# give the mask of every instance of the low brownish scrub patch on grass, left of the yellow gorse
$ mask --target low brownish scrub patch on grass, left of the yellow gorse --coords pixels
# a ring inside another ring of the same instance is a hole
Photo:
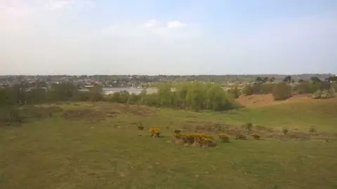
[[[105,120],[107,115],[100,111],[93,109],[79,109],[79,110],[67,110],[62,113],[62,118],[69,120],[88,120],[91,122],[98,122]]]

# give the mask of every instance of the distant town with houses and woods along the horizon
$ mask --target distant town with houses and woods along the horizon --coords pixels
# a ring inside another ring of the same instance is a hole
[[[90,87],[98,85],[100,87],[133,87],[146,88],[153,87],[155,83],[162,82],[187,82],[187,81],[201,81],[207,83],[220,83],[223,87],[232,84],[243,85],[244,83],[251,83],[256,81],[256,78],[268,81],[282,80],[287,75],[191,75],[191,76],[143,76],[143,75],[95,75],[95,76],[0,76],[0,87],[8,87],[15,84],[24,84],[26,87],[50,87],[53,83],[71,82],[79,88]],[[324,80],[331,76],[336,76],[331,73],[327,74],[298,74],[289,75],[293,82],[298,80],[310,80],[312,77],[317,77]]]

